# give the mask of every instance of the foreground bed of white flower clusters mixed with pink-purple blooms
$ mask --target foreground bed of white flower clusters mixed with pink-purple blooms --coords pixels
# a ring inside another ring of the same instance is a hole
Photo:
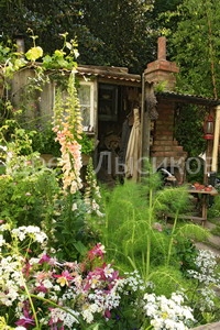
[[[118,329],[121,322],[123,329],[134,329],[142,320],[147,329],[187,329],[194,321],[183,294],[157,297],[138,272],[120,276],[105,263],[100,243],[79,263],[51,256],[47,237],[34,226],[2,223],[0,238],[2,324],[6,320],[16,330]]]

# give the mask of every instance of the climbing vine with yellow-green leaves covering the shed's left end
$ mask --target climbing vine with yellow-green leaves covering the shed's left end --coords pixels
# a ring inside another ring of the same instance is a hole
[[[12,138],[15,129],[25,129],[34,140],[34,151],[42,153],[50,147],[47,151],[50,153],[53,146],[54,155],[58,155],[59,146],[55,142],[55,133],[50,124],[42,125],[37,107],[45,84],[56,81],[67,88],[67,76],[77,66],[77,43],[75,40],[67,41],[68,33],[64,33],[62,34],[64,41],[62,48],[56,50],[52,55],[44,55],[43,48],[37,45],[37,35],[34,35],[31,29],[29,29],[29,34],[33,46],[24,54],[19,53],[13,44],[0,44],[0,124],[8,127],[7,121],[11,120],[10,130],[6,130],[6,140]],[[25,85],[20,89],[19,102],[15,107],[11,98],[10,84],[13,76],[25,68],[31,68],[34,74],[29,76]],[[33,113],[31,118],[26,116],[28,112]]]

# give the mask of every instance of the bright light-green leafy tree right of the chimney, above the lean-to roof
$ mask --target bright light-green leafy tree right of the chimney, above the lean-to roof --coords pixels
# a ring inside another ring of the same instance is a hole
[[[180,67],[178,89],[217,99],[220,89],[220,8],[212,0],[184,0],[169,13],[179,18],[169,29],[173,59]]]

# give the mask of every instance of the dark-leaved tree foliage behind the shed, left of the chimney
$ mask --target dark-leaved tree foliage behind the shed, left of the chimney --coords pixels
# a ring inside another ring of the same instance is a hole
[[[151,26],[153,0],[2,0],[3,38],[28,29],[38,36],[46,53],[59,48],[59,34],[77,37],[81,64],[127,66],[141,73],[154,59]],[[31,46],[25,37],[26,48]]]

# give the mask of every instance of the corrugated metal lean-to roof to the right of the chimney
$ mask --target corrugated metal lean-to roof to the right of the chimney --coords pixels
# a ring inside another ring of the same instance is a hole
[[[176,102],[190,102],[201,106],[218,106],[220,105],[220,99],[211,99],[201,96],[177,94],[174,91],[160,91],[155,94],[158,99],[173,99]]]

